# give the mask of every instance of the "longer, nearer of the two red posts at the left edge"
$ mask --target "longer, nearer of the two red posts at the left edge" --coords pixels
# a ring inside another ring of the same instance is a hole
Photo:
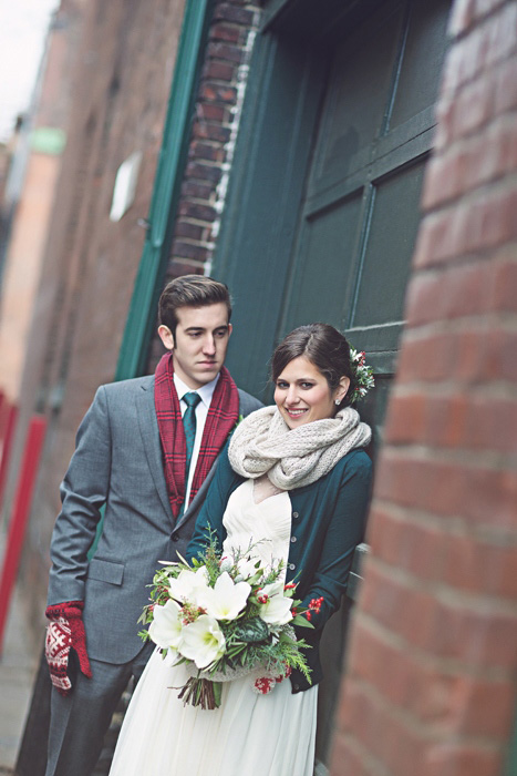
[[[2,652],[6,621],[14,580],[18,573],[45,428],[46,420],[44,418],[39,416],[32,418],[29,425],[22,466],[18,478],[17,493],[3,553],[2,575],[0,579],[0,654]]]

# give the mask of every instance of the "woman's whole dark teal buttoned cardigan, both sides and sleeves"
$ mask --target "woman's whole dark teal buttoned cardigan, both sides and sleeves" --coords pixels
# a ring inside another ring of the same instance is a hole
[[[292,692],[308,690],[322,680],[319,643],[324,624],[340,606],[347,590],[355,547],[364,535],[370,500],[372,464],[363,449],[351,450],[334,468],[317,482],[289,491],[292,520],[287,582],[297,582],[297,599],[307,609],[311,599],[323,598],[319,613],[313,613],[314,630],[297,629],[311,649],[307,662],[311,668],[311,684],[293,671]],[[224,450],[206,501],[198,514],[187,560],[204,552],[208,527],[216,532],[223,547],[226,529],[223,515],[230,494],[244,482],[231,469]]]

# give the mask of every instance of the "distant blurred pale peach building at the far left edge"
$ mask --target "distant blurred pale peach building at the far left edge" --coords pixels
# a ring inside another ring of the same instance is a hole
[[[71,102],[69,71],[76,58],[82,4],[84,0],[64,0],[53,19],[32,106],[12,143],[12,165],[0,201],[6,216],[12,213],[0,305],[0,389],[11,402],[20,398],[27,339],[61,169],[61,139],[66,133]],[[46,142],[41,142],[43,133]],[[51,144],[50,135],[58,142]]]

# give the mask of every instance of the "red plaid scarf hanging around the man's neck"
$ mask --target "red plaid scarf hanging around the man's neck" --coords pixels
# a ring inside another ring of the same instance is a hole
[[[187,450],[182,410],[173,375],[173,354],[167,353],[156,367],[154,405],[164,451],[165,480],[170,509],[174,517],[177,518],[185,500]],[[203,431],[199,457],[190,489],[190,501],[207,478],[238,417],[239,392],[230,372],[226,367],[223,367]]]

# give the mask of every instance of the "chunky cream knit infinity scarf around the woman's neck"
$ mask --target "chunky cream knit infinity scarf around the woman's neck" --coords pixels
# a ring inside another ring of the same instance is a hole
[[[237,426],[228,458],[241,477],[267,472],[277,488],[292,490],[319,480],[350,450],[365,447],[371,436],[370,426],[351,407],[292,430],[276,406],[262,407]]]

